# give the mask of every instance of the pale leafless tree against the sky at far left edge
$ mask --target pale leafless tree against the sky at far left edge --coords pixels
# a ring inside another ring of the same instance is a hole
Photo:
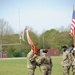
[[[9,37],[13,33],[13,29],[8,22],[0,19],[0,44],[8,43]]]

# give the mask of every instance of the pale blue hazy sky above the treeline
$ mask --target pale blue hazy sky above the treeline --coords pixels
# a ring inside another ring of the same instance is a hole
[[[75,0],[0,0],[0,19],[15,32],[30,26],[41,34],[44,30],[68,27]]]

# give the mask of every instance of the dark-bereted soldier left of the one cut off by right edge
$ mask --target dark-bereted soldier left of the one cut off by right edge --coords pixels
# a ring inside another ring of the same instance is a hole
[[[63,68],[63,75],[69,75],[70,70],[70,54],[69,51],[67,51],[67,46],[62,47],[63,50],[63,56],[62,56],[62,68]]]

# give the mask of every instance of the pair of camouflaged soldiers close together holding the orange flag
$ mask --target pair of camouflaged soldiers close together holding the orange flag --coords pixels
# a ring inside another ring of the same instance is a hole
[[[34,75],[36,66],[39,66],[42,75],[51,75],[52,72],[52,59],[47,56],[48,50],[43,50],[41,56],[33,53],[33,50],[27,55],[27,68],[28,75]]]

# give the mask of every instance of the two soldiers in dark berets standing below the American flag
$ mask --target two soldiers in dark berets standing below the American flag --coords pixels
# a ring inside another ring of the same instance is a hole
[[[70,50],[67,50],[67,46],[62,47],[62,68],[63,75],[69,75],[69,70],[72,68],[72,73],[75,75],[75,48],[74,45],[71,46]]]

